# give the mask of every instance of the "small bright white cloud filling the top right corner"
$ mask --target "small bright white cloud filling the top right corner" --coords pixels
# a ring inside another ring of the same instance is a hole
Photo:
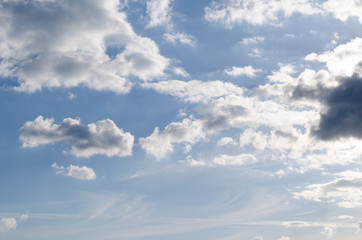
[[[328,0],[323,8],[334,14],[334,17],[345,22],[350,17],[357,17],[362,23],[362,4],[360,1]]]

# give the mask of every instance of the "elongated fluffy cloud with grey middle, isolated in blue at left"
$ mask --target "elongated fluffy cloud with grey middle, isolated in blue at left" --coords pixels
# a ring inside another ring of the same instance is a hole
[[[84,126],[79,119],[66,118],[57,125],[54,119],[39,116],[21,127],[20,141],[23,147],[67,143],[71,145],[70,152],[77,157],[96,154],[112,157],[131,155],[134,137],[110,119]]]

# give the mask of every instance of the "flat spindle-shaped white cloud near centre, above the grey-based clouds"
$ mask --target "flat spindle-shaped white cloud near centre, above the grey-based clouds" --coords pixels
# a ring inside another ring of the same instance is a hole
[[[222,81],[203,82],[191,80],[188,82],[169,80],[155,83],[143,83],[144,88],[154,89],[160,93],[175,96],[186,102],[206,102],[214,98],[230,94],[242,95],[243,88]]]

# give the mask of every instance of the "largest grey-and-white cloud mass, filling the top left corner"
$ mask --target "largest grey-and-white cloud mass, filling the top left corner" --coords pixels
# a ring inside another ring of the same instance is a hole
[[[127,93],[128,76],[163,75],[169,60],[138,36],[119,1],[8,1],[0,7],[0,76],[18,91],[86,86]]]

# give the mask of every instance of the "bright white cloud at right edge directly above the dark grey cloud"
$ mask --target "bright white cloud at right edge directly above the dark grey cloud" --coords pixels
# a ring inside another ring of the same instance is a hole
[[[308,61],[325,62],[328,70],[336,76],[352,76],[358,72],[362,75],[361,62],[362,38],[355,38],[348,43],[337,46],[332,51],[322,54],[311,53],[305,57]]]

